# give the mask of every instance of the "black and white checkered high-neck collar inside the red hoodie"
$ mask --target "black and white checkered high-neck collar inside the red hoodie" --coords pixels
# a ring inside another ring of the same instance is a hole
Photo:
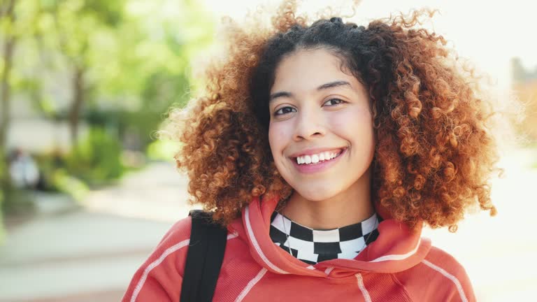
[[[285,225],[284,225],[285,224]],[[331,230],[303,227],[274,212],[270,235],[273,243],[307,264],[331,259],[354,259],[378,237],[376,214],[363,222]],[[365,242],[367,240],[367,242]]]

